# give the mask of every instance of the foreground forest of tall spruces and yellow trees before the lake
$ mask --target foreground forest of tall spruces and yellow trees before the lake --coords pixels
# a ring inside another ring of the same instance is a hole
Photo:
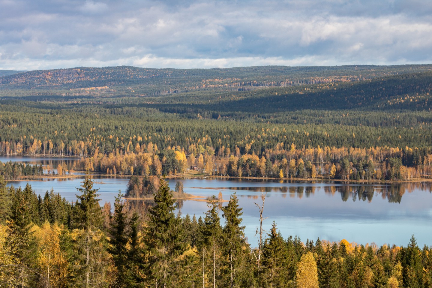
[[[86,178],[76,202],[0,177],[0,282],[4,287],[429,288],[432,247],[302,240],[273,222],[248,243],[235,194],[216,197],[203,216],[175,215],[159,180],[146,213],[118,195],[101,208]],[[265,195],[261,197],[260,211]],[[222,217],[221,217],[222,215]],[[258,225],[258,224],[257,224]],[[409,237],[407,237],[409,238]],[[407,239],[408,240],[408,239]]]

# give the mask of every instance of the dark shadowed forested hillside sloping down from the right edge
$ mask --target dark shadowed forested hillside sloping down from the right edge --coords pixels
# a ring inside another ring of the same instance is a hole
[[[432,72],[388,76],[358,82],[276,87],[242,92],[203,93],[152,97],[146,106],[170,113],[194,111],[232,114],[318,110],[430,111]],[[123,100],[127,101],[127,100]],[[130,100],[132,101],[132,100]]]

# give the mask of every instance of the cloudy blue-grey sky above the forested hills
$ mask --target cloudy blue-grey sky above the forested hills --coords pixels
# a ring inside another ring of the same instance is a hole
[[[430,0],[0,0],[0,69],[432,63]]]

